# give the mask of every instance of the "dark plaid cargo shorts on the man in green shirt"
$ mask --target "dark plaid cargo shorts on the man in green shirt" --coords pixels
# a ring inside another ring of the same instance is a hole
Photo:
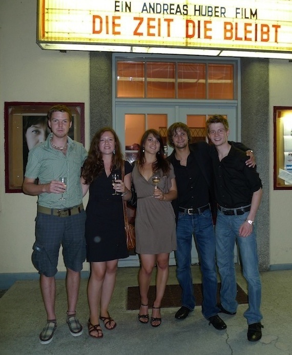
[[[65,266],[76,272],[82,270],[86,258],[85,221],[84,210],[65,218],[37,213],[32,263],[38,273],[48,278],[57,273],[61,245]]]

